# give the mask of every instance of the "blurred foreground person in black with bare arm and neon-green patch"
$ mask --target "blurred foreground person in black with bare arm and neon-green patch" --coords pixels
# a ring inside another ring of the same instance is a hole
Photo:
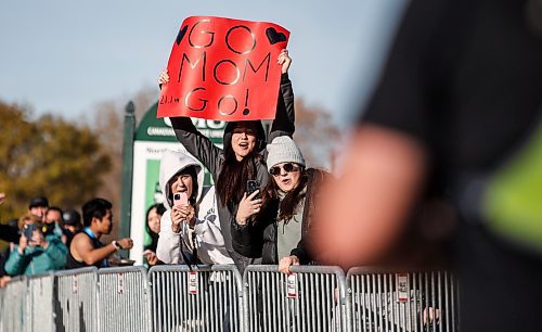
[[[542,2],[412,1],[363,111],[322,259],[401,260],[426,208],[459,220],[461,330],[542,331]]]

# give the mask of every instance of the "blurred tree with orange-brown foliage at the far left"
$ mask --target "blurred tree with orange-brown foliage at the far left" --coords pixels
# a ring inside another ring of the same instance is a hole
[[[43,115],[33,120],[27,106],[0,101],[0,189],[8,200],[2,215],[18,217],[31,196],[79,208],[96,195],[111,158],[85,125]]]

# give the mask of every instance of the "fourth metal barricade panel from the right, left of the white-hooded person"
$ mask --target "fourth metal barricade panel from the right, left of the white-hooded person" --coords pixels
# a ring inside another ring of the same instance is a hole
[[[100,331],[151,331],[151,294],[145,268],[100,269],[98,289]]]

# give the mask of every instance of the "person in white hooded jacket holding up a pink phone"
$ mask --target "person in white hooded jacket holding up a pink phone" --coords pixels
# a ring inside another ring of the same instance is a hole
[[[160,161],[160,188],[166,212],[160,219],[156,255],[165,264],[233,264],[228,255],[218,216],[197,218],[204,170],[183,152],[167,150]],[[173,203],[175,194],[186,202]]]

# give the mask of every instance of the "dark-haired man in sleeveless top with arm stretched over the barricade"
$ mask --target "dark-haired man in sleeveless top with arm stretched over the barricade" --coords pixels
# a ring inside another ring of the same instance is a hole
[[[111,202],[104,199],[92,199],[85,203],[82,206],[85,228],[72,240],[66,269],[87,266],[108,267],[107,258],[112,254],[132,248],[133,241],[128,238],[114,240],[109,244],[100,241],[103,234],[109,234],[113,229],[112,208]]]

